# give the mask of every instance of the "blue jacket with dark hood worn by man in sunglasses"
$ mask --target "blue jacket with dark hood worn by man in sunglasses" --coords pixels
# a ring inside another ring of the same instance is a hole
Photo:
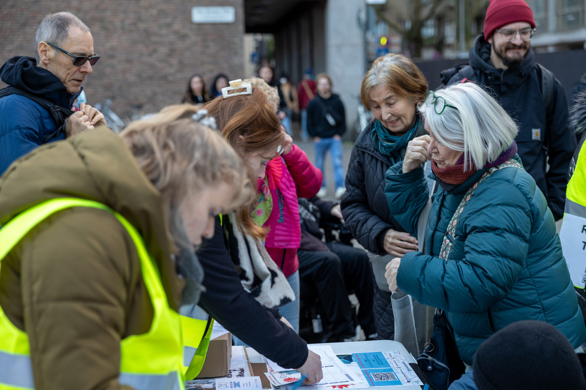
[[[12,57],[0,68],[0,79],[11,87],[20,88],[64,108],[71,108],[79,95],[69,94],[59,78],[36,66],[35,58]],[[12,161],[45,143],[57,131],[49,111],[20,95],[0,99],[0,175]],[[65,139],[65,133],[49,141]]]

